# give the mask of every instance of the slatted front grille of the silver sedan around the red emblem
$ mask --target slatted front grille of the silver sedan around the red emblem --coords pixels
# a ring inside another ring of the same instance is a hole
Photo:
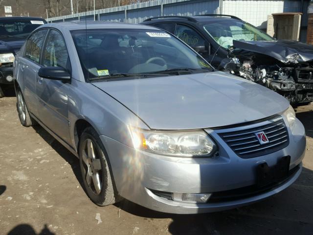
[[[256,137],[257,132],[263,131],[268,143],[261,144]],[[283,118],[268,120],[266,123],[240,131],[219,133],[227,145],[242,158],[254,158],[283,149],[289,144],[288,130]]]

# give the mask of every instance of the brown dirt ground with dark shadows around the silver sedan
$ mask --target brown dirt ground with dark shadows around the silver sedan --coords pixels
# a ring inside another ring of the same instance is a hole
[[[78,160],[40,126],[22,127],[15,105],[15,97],[0,99],[0,235],[313,235],[313,105],[297,109],[308,143],[291,187],[250,206],[199,215],[129,201],[97,207],[82,188]]]

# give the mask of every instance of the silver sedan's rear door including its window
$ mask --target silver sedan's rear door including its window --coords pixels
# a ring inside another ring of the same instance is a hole
[[[38,115],[38,99],[36,95],[35,82],[38,78],[40,66],[40,55],[44,45],[48,29],[34,32],[26,41],[23,57],[19,61],[19,75],[22,75],[22,93],[28,111]]]

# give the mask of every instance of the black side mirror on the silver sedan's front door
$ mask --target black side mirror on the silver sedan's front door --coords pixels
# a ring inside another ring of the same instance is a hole
[[[51,80],[59,80],[62,82],[70,81],[70,74],[62,67],[42,67],[39,69],[38,75]]]

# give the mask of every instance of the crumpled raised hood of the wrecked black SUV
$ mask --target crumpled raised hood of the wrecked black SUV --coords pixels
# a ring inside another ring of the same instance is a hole
[[[284,64],[297,64],[313,60],[313,46],[292,40],[251,42],[233,40],[233,45],[237,49],[271,56]]]

